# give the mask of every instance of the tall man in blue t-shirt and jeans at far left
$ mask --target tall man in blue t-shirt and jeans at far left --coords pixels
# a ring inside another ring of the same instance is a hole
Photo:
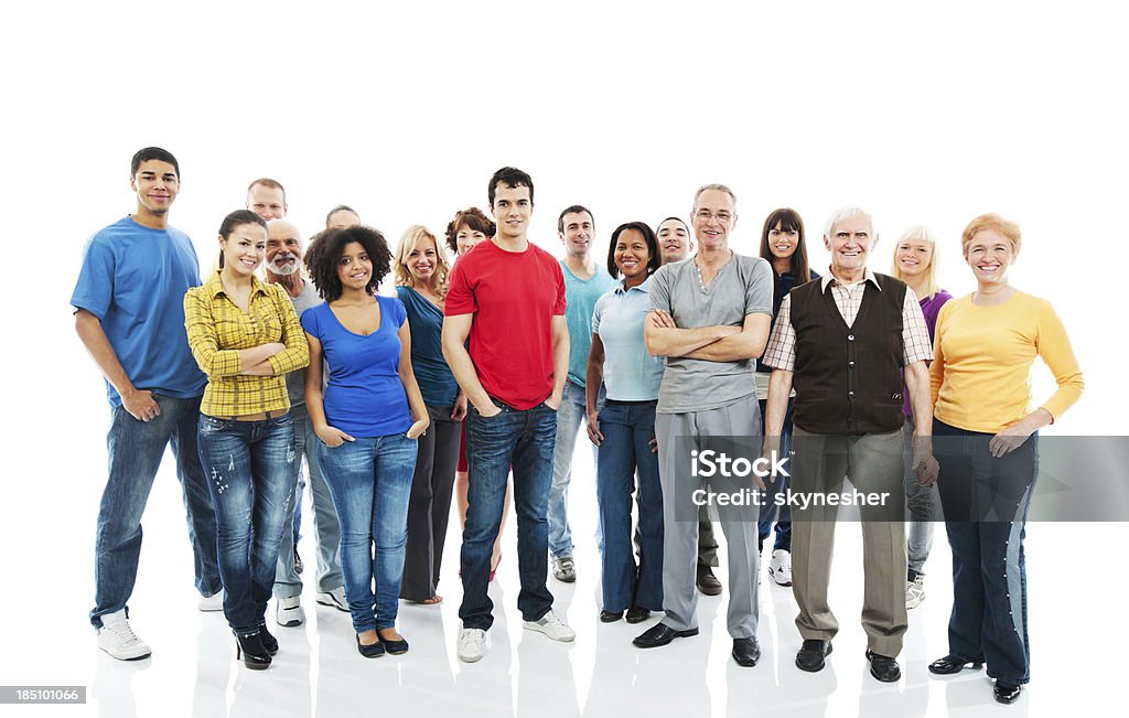
[[[120,660],[150,655],[130,628],[126,603],[141,515],[168,444],[187,508],[200,610],[222,610],[216,514],[196,452],[205,377],[184,331],[184,294],[200,284],[200,264],[187,235],[168,226],[180,166],[167,150],[147,147],[133,156],[130,175],[137,210],[90,237],[71,296],[75,330],[106,378],[111,406],[90,622],[98,647]]]

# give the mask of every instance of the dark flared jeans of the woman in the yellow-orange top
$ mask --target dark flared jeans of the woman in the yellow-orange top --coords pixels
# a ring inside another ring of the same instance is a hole
[[[953,612],[948,653],[983,660],[988,675],[1031,678],[1027,573],[1023,538],[1039,474],[1039,436],[994,458],[990,434],[934,419],[937,489],[953,550]]]

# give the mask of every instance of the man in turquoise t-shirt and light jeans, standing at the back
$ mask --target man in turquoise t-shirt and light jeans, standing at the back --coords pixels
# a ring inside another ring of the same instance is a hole
[[[564,245],[561,270],[564,273],[564,321],[568,323],[570,349],[568,382],[557,412],[557,448],[553,450],[553,485],[549,493],[549,552],[553,557],[557,580],[576,580],[572,559],[572,532],[568,525],[568,484],[572,478],[572,453],[580,426],[587,423],[585,376],[588,351],[592,349],[592,312],[596,299],[615,288],[605,269],[592,259],[595,220],[586,208],[574,204],[557,219],[557,231]],[[599,404],[604,402],[601,388]],[[595,465],[596,447],[593,447]]]

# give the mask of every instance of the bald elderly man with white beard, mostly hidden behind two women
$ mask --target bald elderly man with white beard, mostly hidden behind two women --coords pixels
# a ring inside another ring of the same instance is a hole
[[[268,224],[266,281],[279,284],[294,303],[294,310],[301,313],[321,303],[313,283],[301,275],[301,236],[297,227],[285,219],[272,219]],[[338,544],[341,528],[333,509],[329,487],[317,467],[317,435],[306,411],[306,395],[301,371],[292,371],[286,377],[287,393],[290,395],[290,417],[294,421],[295,462],[294,483],[287,499],[287,516],[294,516],[294,504],[299,478],[301,457],[306,456],[309,471],[309,487],[314,497],[314,538],[317,542],[317,603],[339,611],[349,611],[345,602],[344,578],[341,575],[341,557]],[[274,597],[278,599],[275,618],[279,625],[301,625],[306,614],[301,608],[301,578],[295,569],[294,529],[289,525],[282,531],[279,546],[279,563],[274,575]]]

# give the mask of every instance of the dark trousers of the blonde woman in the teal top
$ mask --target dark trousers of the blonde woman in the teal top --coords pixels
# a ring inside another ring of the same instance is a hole
[[[409,601],[427,601],[439,586],[462,429],[462,422],[450,418],[450,406],[428,406],[427,412],[431,426],[419,438],[408,504],[404,580],[400,586],[400,597]]]

